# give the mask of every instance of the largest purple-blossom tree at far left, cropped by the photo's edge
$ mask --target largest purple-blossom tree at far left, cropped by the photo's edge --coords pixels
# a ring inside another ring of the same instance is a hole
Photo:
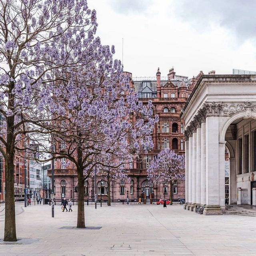
[[[95,55],[107,49],[99,47],[100,39],[94,38],[96,28],[96,12],[88,8],[86,0],[0,0],[0,152],[6,173],[4,241],[16,241],[14,153],[28,148],[27,136],[33,140],[31,134],[46,134],[52,120],[63,119],[65,102],[57,98],[63,81],[72,94],[74,83],[70,80],[74,73],[78,80],[87,78],[88,83],[100,79],[93,72],[97,65]],[[83,66],[92,68],[86,76],[76,72]],[[68,104],[76,106],[75,99],[71,97]]]

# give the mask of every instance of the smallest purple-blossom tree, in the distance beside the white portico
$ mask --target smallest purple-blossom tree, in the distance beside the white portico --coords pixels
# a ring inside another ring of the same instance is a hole
[[[147,170],[148,179],[159,184],[169,182],[170,204],[172,204],[172,183],[174,180],[185,180],[185,158],[173,150],[164,149],[154,159]]]

